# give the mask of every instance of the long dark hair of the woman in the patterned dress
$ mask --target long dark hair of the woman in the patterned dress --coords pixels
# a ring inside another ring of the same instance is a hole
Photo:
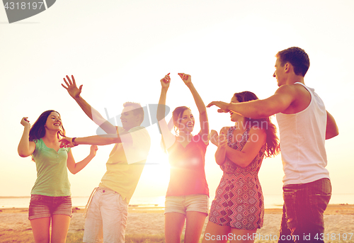
[[[244,91],[240,93],[235,93],[234,97],[237,101],[246,102],[246,101],[254,101],[258,100],[256,94],[253,94],[250,91]],[[267,138],[265,140],[265,157],[272,157],[280,152],[279,140],[277,136],[277,128],[270,121],[270,118],[261,118],[261,119],[253,119],[253,118],[245,118],[246,124],[245,127],[251,128],[252,126],[256,126],[260,129],[265,130],[265,134]],[[265,123],[265,124],[264,124]]]

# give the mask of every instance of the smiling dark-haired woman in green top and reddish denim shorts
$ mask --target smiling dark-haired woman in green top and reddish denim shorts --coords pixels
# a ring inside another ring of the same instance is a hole
[[[89,156],[76,163],[70,148],[60,148],[59,140],[65,137],[65,130],[57,111],[43,112],[32,128],[27,117],[22,118],[21,124],[24,130],[18,154],[21,157],[31,155],[37,167],[28,210],[35,242],[50,242],[50,239],[51,242],[65,242],[72,217],[67,169],[72,174],[84,169],[95,157],[97,146],[91,146]]]

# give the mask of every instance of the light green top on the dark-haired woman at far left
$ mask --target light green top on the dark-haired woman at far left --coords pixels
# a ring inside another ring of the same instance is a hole
[[[70,148],[57,151],[45,145],[42,138],[35,140],[33,160],[37,167],[37,180],[31,194],[44,196],[71,196],[67,175],[67,153]]]

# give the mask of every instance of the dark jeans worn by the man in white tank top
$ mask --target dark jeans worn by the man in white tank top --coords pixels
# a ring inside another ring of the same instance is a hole
[[[324,210],[331,199],[332,186],[323,178],[282,187],[284,205],[278,242],[324,242]]]

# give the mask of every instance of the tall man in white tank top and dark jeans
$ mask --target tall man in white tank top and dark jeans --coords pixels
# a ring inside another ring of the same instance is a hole
[[[285,173],[278,242],[324,242],[324,210],[331,198],[324,140],[338,135],[338,128],[314,89],[304,85],[307,53],[290,47],[275,57],[273,77],[279,88],[273,96],[244,103],[213,101],[207,107],[248,118],[277,115]]]

